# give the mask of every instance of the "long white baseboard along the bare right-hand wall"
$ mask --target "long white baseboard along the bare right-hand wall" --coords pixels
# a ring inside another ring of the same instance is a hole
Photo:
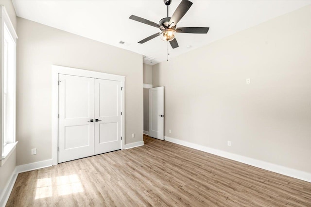
[[[272,172],[275,172],[278,174],[287,175],[287,176],[294,177],[294,178],[297,178],[300,180],[311,182],[311,173],[307,173],[304,171],[295,170],[292,168],[284,167],[281,165],[276,165],[276,164],[266,162],[266,161],[262,161],[262,160],[258,160],[258,159],[244,157],[242,155],[237,155],[237,154],[225,152],[225,151],[218,150],[218,149],[213,149],[213,148],[210,148],[207,146],[178,140],[178,139],[175,139],[172,137],[165,136],[165,141],[168,141],[171,143],[176,143],[176,144],[183,145],[183,146],[187,146],[187,147],[197,149],[197,150],[200,150],[203,152],[207,152],[207,153],[210,153],[213,155],[217,155],[217,156],[220,156],[223,158],[232,159],[232,160],[235,160],[238,162],[242,162],[242,163],[245,163],[248,165],[259,167],[261,169],[272,171]]]

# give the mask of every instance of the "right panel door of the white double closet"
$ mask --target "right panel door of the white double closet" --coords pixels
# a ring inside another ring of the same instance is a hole
[[[121,109],[121,81],[95,79],[95,155],[121,149]]]

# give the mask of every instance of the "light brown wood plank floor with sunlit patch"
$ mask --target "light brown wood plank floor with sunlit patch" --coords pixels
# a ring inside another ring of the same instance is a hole
[[[145,145],[21,173],[22,206],[311,207],[311,183],[144,136]]]

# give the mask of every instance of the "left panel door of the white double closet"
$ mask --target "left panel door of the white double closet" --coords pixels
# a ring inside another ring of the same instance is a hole
[[[58,163],[94,155],[94,79],[59,75]]]

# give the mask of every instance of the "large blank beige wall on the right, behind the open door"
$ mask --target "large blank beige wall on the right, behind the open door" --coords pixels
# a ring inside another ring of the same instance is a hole
[[[311,173],[311,6],[156,64],[153,84],[166,136]]]

